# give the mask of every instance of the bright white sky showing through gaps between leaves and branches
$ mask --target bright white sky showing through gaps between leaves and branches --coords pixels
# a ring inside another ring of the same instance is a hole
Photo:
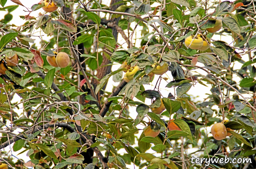
[[[40,0],[30,0],[30,1],[29,1],[29,0],[20,0],[20,2],[21,2],[24,6],[26,6],[27,8],[31,8],[32,5],[38,3],[39,1],[40,1]],[[11,2],[10,0],[8,0],[7,3],[6,3],[6,5],[5,5],[5,7],[6,7],[6,6],[10,6],[10,5],[16,5],[16,4],[13,3],[13,2]],[[13,19],[11,20],[11,24],[14,24],[14,25],[16,25],[16,26],[21,26],[21,25],[23,25],[23,23],[25,23],[26,21],[23,20],[23,19],[21,19],[20,16],[25,16],[25,15],[27,15],[28,12],[25,12],[25,11],[27,11],[26,8],[24,8],[24,7],[22,7],[22,6],[19,6],[15,11],[11,12],[11,14],[13,15]],[[42,9],[40,9],[40,10],[38,10],[38,11],[34,11],[34,12],[32,12],[32,13],[30,14],[30,16],[38,17],[39,12],[43,13],[44,11],[43,11]],[[6,11],[0,11],[0,19],[4,18],[4,15],[5,15],[5,14],[7,14]],[[133,27],[134,27],[134,26],[135,26],[135,24],[133,24]],[[151,28],[150,28],[150,29],[151,29]],[[39,30],[39,29],[38,29],[38,30]],[[38,31],[38,30],[35,30],[35,31]],[[141,37],[141,35],[140,35],[140,30],[141,30],[141,28],[140,28],[140,26],[139,26],[139,27],[137,28],[137,35],[134,35],[133,37],[140,38],[140,37]],[[37,35],[37,34],[39,34],[39,33],[36,33],[35,35]],[[36,42],[37,44],[40,42],[40,39],[39,39],[38,37],[33,37],[33,38],[36,39],[35,42]],[[43,39],[46,40],[46,41],[48,41],[50,38],[51,38],[51,37],[46,36],[46,35],[43,36]],[[232,38],[230,38],[230,37],[228,37],[228,36],[221,36],[221,37],[220,37],[220,35],[214,35],[214,36],[213,36],[213,39],[215,39],[215,40],[223,40],[223,41],[226,41],[228,44],[233,41]],[[140,40],[140,39],[138,39],[138,40],[136,41],[136,46],[139,46],[139,44],[140,44],[140,41],[139,41],[139,40]],[[123,42],[124,42],[124,40],[123,40],[122,36],[120,36],[120,34],[119,34],[119,36],[118,36],[118,40],[117,40],[117,41],[118,41],[119,44],[123,44]],[[231,43],[231,45],[233,45],[233,43]],[[127,45],[124,44],[124,46],[127,46]],[[248,60],[248,55],[243,55],[242,58],[243,58],[243,60],[247,61],[247,60]],[[197,65],[198,65],[198,66],[204,66],[202,63],[197,63]],[[242,64],[240,64],[240,66],[237,66],[236,69],[240,69],[241,66],[242,66]],[[113,65],[113,66],[112,66],[112,71],[117,70],[119,67],[120,67],[119,64]],[[202,71],[202,70],[197,70],[197,71],[198,71],[200,74],[202,74],[202,75],[206,75],[206,73],[205,73],[204,71]],[[158,77],[159,77],[158,75],[155,75],[155,78],[154,78],[153,82],[151,83],[151,85],[144,85],[145,90],[148,90],[148,89],[153,90],[154,87],[155,87],[155,84],[156,84],[156,82],[157,82]],[[173,79],[170,71],[168,71],[165,75],[163,75],[163,77],[170,78],[170,79],[168,80],[168,82],[172,81],[172,79]],[[238,80],[239,80],[239,79],[238,79]],[[162,81],[161,81],[161,85],[160,85],[160,89],[161,89],[161,90],[160,90],[160,92],[161,92],[161,94],[163,95],[163,97],[167,97],[168,94],[169,94],[169,92],[171,92],[171,93],[173,94],[173,90],[174,90],[173,88],[165,88],[165,86],[167,85],[168,82],[164,81],[163,79],[162,79]],[[119,84],[119,83],[113,82],[113,81],[112,81],[112,77],[111,77],[111,78],[109,79],[109,83],[107,84],[106,90],[107,90],[107,91],[112,91],[113,86],[117,86],[118,84]],[[211,94],[211,92],[210,92],[210,88],[211,88],[211,87],[210,87],[209,84],[208,84],[208,86],[209,86],[209,87],[203,86],[203,85],[201,85],[201,84],[196,84],[195,87],[192,86],[192,88],[188,91],[188,94],[193,95],[193,96],[195,97],[195,100],[197,100],[197,101],[203,101],[205,98],[208,97],[208,94]],[[19,96],[17,96],[17,94],[15,95],[14,100],[15,100],[15,102],[17,102],[17,100],[20,100],[20,98],[19,98]],[[136,98],[134,98],[134,101],[139,101],[139,100],[137,100]],[[151,104],[150,99],[146,99],[145,103],[148,104],[148,105],[150,105],[150,104]],[[17,109],[16,109],[16,110],[14,110],[14,111],[15,111],[15,112],[20,112],[20,111],[22,111],[22,104],[20,104],[20,108],[21,108],[20,110],[17,110]],[[129,111],[130,111],[130,116],[131,116],[131,118],[135,119],[135,118],[136,118],[136,115],[137,115],[137,113],[136,113],[136,107],[131,107],[131,106],[129,106]],[[137,127],[140,128],[140,129],[144,128],[144,126],[142,126],[142,125],[138,125]],[[18,134],[17,131],[18,131],[18,130],[16,130],[16,133]],[[139,134],[137,134],[138,137],[139,137],[139,135],[141,134],[141,132],[142,132],[142,131],[140,131]],[[209,133],[209,132],[210,132],[210,129],[208,128],[208,133]],[[11,146],[13,146],[13,144],[12,144]],[[136,146],[137,146],[137,145],[136,145]],[[5,150],[7,150],[7,151],[8,151],[8,149],[9,149],[9,147],[5,148]],[[24,161],[30,160],[30,158],[26,156],[26,153],[27,153],[27,152],[18,155],[18,154],[19,154],[20,152],[22,152],[23,150],[24,150],[24,149],[21,149],[20,151],[17,151],[17,152],[13,152],[13,154],[16,155],[18,158],[23,159]],[[195,151],[195,149],[190,149],[190,152],[194,152],[194,151]],[[122,152],[124,152],[124,151],[122,151]],[[148,150],[147,152],[154,153],[153,150]],[[157,155],[157,156],[159,156],[159,155]],[[133,168],[133,165],[129,165],[129,166],[127,166],[127,167]]]

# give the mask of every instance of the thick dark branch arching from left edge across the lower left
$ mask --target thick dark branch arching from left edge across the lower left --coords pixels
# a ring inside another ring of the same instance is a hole
[[[37,131],[40,131],[40,130],[43,130],[43,129],[46,129],[48,127],[61,127],[61,128],[65,128],[67,129],[70,133],[73,133],[73,132],[76,132],[70,125],[68,125],[67,123],[55,123],[55,124],[49,124],[49,123],[46,123],[44,125],[41,125],[41,126],[37,126],[37,128],[34,130],[33,133],[37,132]],[[25,131],[24,134],[30,134],[32,131],[32,129],[28,130],[28,131]],[[31,133],[31,134],[33,134]],[[0,149],[3,149],[7,146],[9,146],[9,141],[10,141],[10,144],[11,143],[14,143],[22,138],[25,138],[23,134],[20,134],[20,135],[17,135],[16,137],[13,137],[12,139],[10,140],[7,140],[5,143],[2,143],[0,145]]]

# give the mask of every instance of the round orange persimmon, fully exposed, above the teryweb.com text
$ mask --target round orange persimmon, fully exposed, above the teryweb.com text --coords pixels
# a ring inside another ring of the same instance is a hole
[[[216,123],[211,127],[211,134],[216,140],[223,140],[227,137],[227,129],[224,124]]]

